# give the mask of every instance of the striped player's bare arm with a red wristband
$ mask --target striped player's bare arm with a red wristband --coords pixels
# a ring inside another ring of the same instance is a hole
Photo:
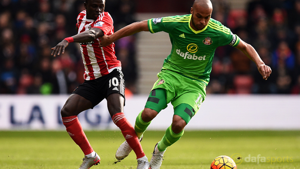
[[[52,56],[57,56],[64,53],[64,49],[69,45],[71,42],[78,42],[78,43],[87,43],[92,42],[93,40],[103,36],[103,30],[100,28],[91,28],[90,30],[84,31],[82,33],[78,33],[72,37],[65,38],[59,44],[57,44],[52,49]]]

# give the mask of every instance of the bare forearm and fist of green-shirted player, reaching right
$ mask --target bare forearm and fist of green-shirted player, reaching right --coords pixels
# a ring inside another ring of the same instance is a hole
[[[240,51],[242,51],[247,57],[255,62],[256,67],[263,79],[267,80],[269,78],[272,70],[270,66],[265,65],[265,63],[261,60],[254,47],[240,40],[240,43],[236,46],[236,48],[240,49]]]

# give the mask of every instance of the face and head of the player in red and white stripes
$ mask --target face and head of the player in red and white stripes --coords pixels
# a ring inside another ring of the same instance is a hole
[[[105,0],[88,0],[84,2],[87,10],[87,19],[97,20],[99,14],[104,12]]]

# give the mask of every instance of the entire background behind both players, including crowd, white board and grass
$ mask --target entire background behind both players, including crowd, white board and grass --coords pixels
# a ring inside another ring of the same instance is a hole
[[[189,14],[193,1],[107,0],[105,11],[112,15],[117,31],[143,19]],[[236,161],[242,169],[299,169],[300,0],[211,1],[212,18],[252,44],[272,74],[264,81],[239,50],[219,47],[207,98],[184,136],[166,151],[162,169],[208,169],[219,155],[243,157],[244,161]],[[1,169],[75,169],[81,164],[83,154],[60,117],[66,99],[83,82],[79,44],[69,44],[63,55],[50,54],[51,47],[75,35],[83,2],[0,0]],[[124,113],[134,124],[171,44],[164,32],[140,32],[115,43],[127,87]],[[151,122],[148,130],[153,131],[145,132],[141,144],[148,158],[172,115],[169,105]],[[98,168],[136,167],[134,153],[112,165],[124,138],[112,123],[105,100],[78,118],[101,155]],[[250,155],[277,161],[247,162]],[[285,161],[286,157],[293,161]]]

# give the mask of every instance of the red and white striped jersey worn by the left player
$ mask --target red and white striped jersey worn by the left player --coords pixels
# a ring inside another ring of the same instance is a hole
[[[77,33],[91,28],[100,28],[105,35],[114,33],[113,19],[107,12],[101,13],[97,20],[87,19],[86,10],[78,14],[76,27]],[[80,50],[85,67],[84,79],[94,80],[110,73],[112,70],[121,68],[120,60],[115,55],[115,44],[106,47],[98,47],[100,38],[92,42],[80,43]]]

